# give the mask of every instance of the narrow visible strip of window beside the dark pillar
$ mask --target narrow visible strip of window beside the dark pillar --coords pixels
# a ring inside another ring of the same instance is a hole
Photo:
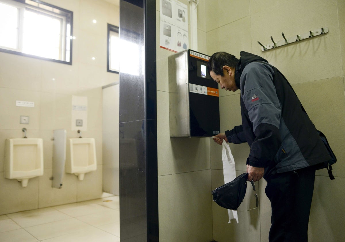
[[[108,72],[119,73],[119,55],[119,27],[108,24]]]

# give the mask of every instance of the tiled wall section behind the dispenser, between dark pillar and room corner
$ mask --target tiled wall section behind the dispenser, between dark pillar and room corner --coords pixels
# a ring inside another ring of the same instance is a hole
[[[188,0],[180,2],[188,6],[190,19]],[[211,241],[210,138],[169,136],[168,56],[174,52],[159,47],[159,3],[156,0],[159,241]],[[207,54],[205,11],[205,0],[200,0],[198,51]]]

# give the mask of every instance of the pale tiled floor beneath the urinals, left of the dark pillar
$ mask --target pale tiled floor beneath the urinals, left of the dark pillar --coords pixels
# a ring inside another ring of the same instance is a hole
[[[119,242],[119,197],[0,215],[0,241]]]

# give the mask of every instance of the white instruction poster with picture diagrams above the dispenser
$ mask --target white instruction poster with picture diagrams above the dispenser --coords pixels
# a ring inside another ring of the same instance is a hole
[[[188,49],[188,7],[177,0],[160,0],[160,48]]]

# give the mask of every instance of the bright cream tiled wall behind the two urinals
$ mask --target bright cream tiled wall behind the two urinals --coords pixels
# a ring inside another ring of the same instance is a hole
[[[73,11],[72,65],[19,55],[0,53],[0,214],[30,210],[88,199],[102,193],[102,89],[118,81],[118,74],[107,72],[107,23],[119,25],[119,7],[107,1],[45,0]],[[93,24],[92,20],[97,23]],[[95,60],[92,60],[95,57]],[[55,78],[55,81],[52,80]],[[67,138],[77,138],[71,129],[72,95],[88,99],[88,125],[82,137],[96,140],[97,170],[83,181],[65,174],[61,189],[52,188],[53,130],[66,129]],[[17,107],[16,100],[32,101],[34,108]],[[20,115],[30,117],[20,124]],[[16,179],[3,176],[4,141],[27,137],[42,138],[44,174],[29,179],[23,188]]]

